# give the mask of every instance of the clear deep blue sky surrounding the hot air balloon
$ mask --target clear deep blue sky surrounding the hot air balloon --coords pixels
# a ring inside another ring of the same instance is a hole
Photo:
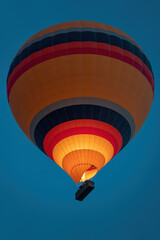
[[[0,239],[160,239],[160,2],[0,1]],[[148,56],[155,97],[136,137],[74,200],[77,186],[23,134],[10,111],[6,78],[21,45],[43,28],[93,20],[133,37]]]

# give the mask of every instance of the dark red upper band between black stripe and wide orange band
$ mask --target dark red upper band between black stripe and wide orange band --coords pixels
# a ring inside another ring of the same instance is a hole
[[[111,46],[106,43],[95,44],[93,42],[83,42],[82,44],[81,42],[74,42],[67,44],[62,43],[53,47],[48,47],[36,53],[33,53],[29,57],[25,58],[18,66],[15,67],[15,69],[9,76],[7,83],[8,98],[12,86],[25,71],[29,70],[36,64],[42,63],[46,60],[71,54],[97,54],[103,56],[110,56],[111,58],[119,59],[123,62],[126,62],[138,69],[148,79],[154,92],[154,79],[151,71],[141,61],[141,59],[139,59],[131,52],[123,50],[119,47]]]

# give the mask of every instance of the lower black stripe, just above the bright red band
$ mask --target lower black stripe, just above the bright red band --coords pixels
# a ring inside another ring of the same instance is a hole
[[[37,146],[44,152],[43,140],[46,134],[55,126],[76,119],[94,119],[115,127],[122,135],[122,148],[128,143],[131,128],[128,121],[118,112],[96,105],[73,105],[63,107],[47,114],[40,120],[34,131]]]

